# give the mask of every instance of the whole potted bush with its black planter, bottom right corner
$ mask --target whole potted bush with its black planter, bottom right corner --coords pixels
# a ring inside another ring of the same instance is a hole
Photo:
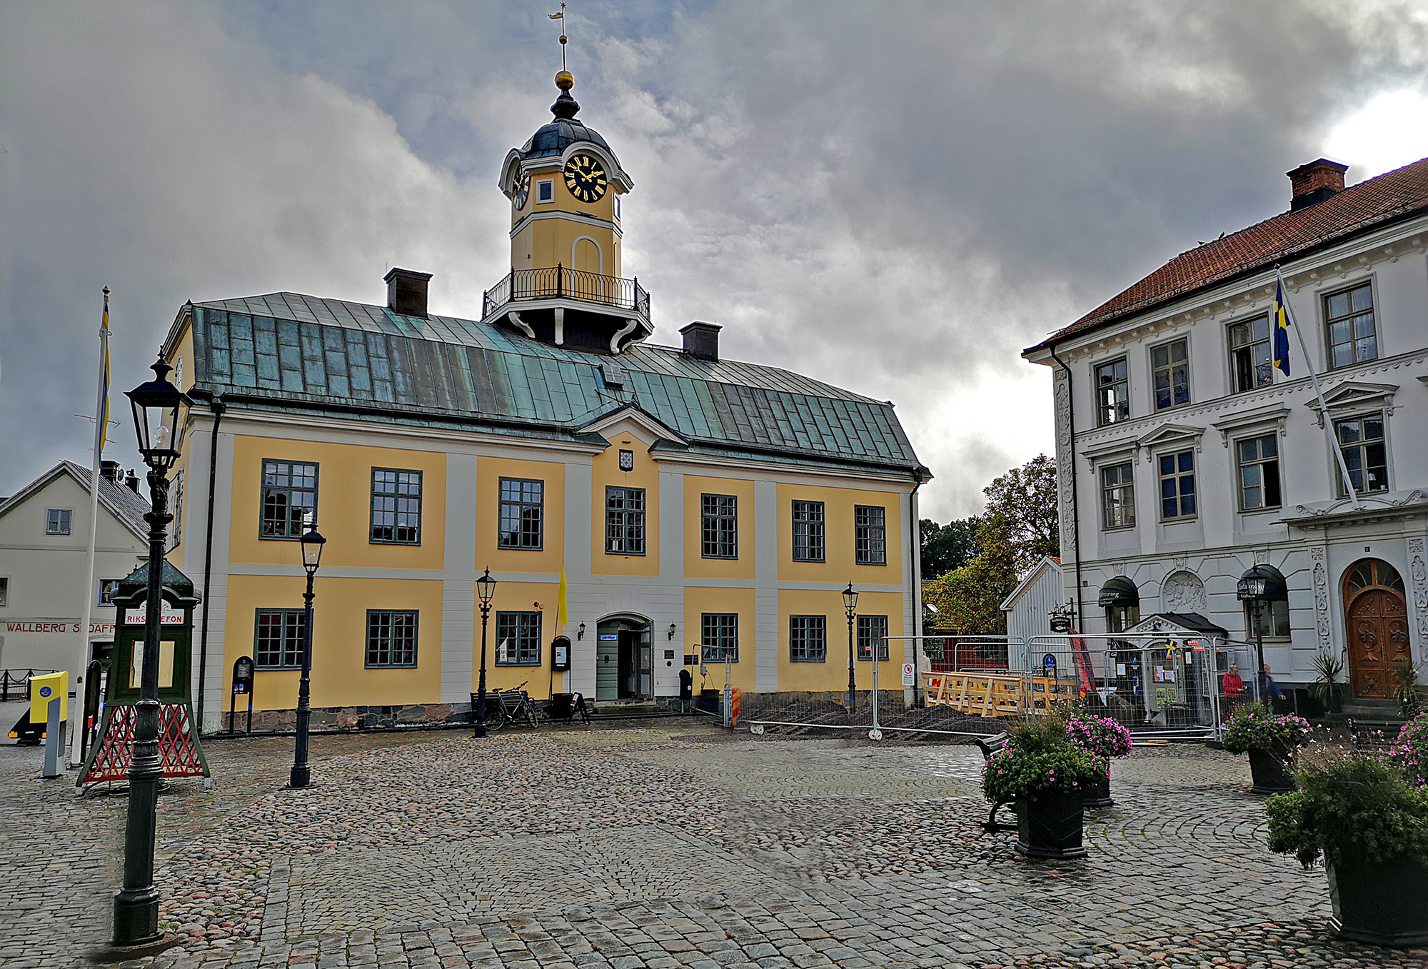
[[[1314,745],[1297,762],[1299,790],[1265,805],[1269,849],[1305,868],[1324,856],[1341,938],[1428,943],[1428,789],[1374,753]]]

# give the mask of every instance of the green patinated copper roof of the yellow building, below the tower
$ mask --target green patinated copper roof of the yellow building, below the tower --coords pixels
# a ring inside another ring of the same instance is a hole
[[[273,407],[377,407],[421,426],[491,422],[496,433],[571,437],[637,406],[705,453],[785,452],[798,463],[920,466],[892,406],[790,370],[635,344],[623,387],[603,357],[456,317],[268,293],[194,304],[197,382]],[[733,449],[733,450],[730,450]]]

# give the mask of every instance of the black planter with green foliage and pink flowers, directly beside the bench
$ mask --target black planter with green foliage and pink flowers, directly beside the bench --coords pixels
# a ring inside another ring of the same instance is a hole
[[[1041,716],[1011,732],[987,760],[982,792],[1017,802],[1017,850],[1028,858],[1068,859],[1081,845],[1082,792],[1110,773],[1110,763],[1071,742],[1065,720]]]

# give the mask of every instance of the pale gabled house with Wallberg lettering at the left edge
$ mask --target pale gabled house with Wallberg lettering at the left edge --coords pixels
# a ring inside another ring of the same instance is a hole
[[[76,683],[80,643],[89,657],[114,642],[110,595],[147,555],[149,502],[104,462],[99,490],[94,579],[89,580],[90,469],[60,462],[0,502],[0,670],[69,670]],[[81,636],[83,596],[91,596]]]

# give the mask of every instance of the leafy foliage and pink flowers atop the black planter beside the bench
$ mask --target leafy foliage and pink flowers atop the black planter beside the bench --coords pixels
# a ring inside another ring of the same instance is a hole
[[[1032,799],[1100,783],[1111,775],[1105,757],[1077,746],[1065,720],[1042,716],[1011,732],[1011,740],[987,760],[982,792],[988,800]]]

